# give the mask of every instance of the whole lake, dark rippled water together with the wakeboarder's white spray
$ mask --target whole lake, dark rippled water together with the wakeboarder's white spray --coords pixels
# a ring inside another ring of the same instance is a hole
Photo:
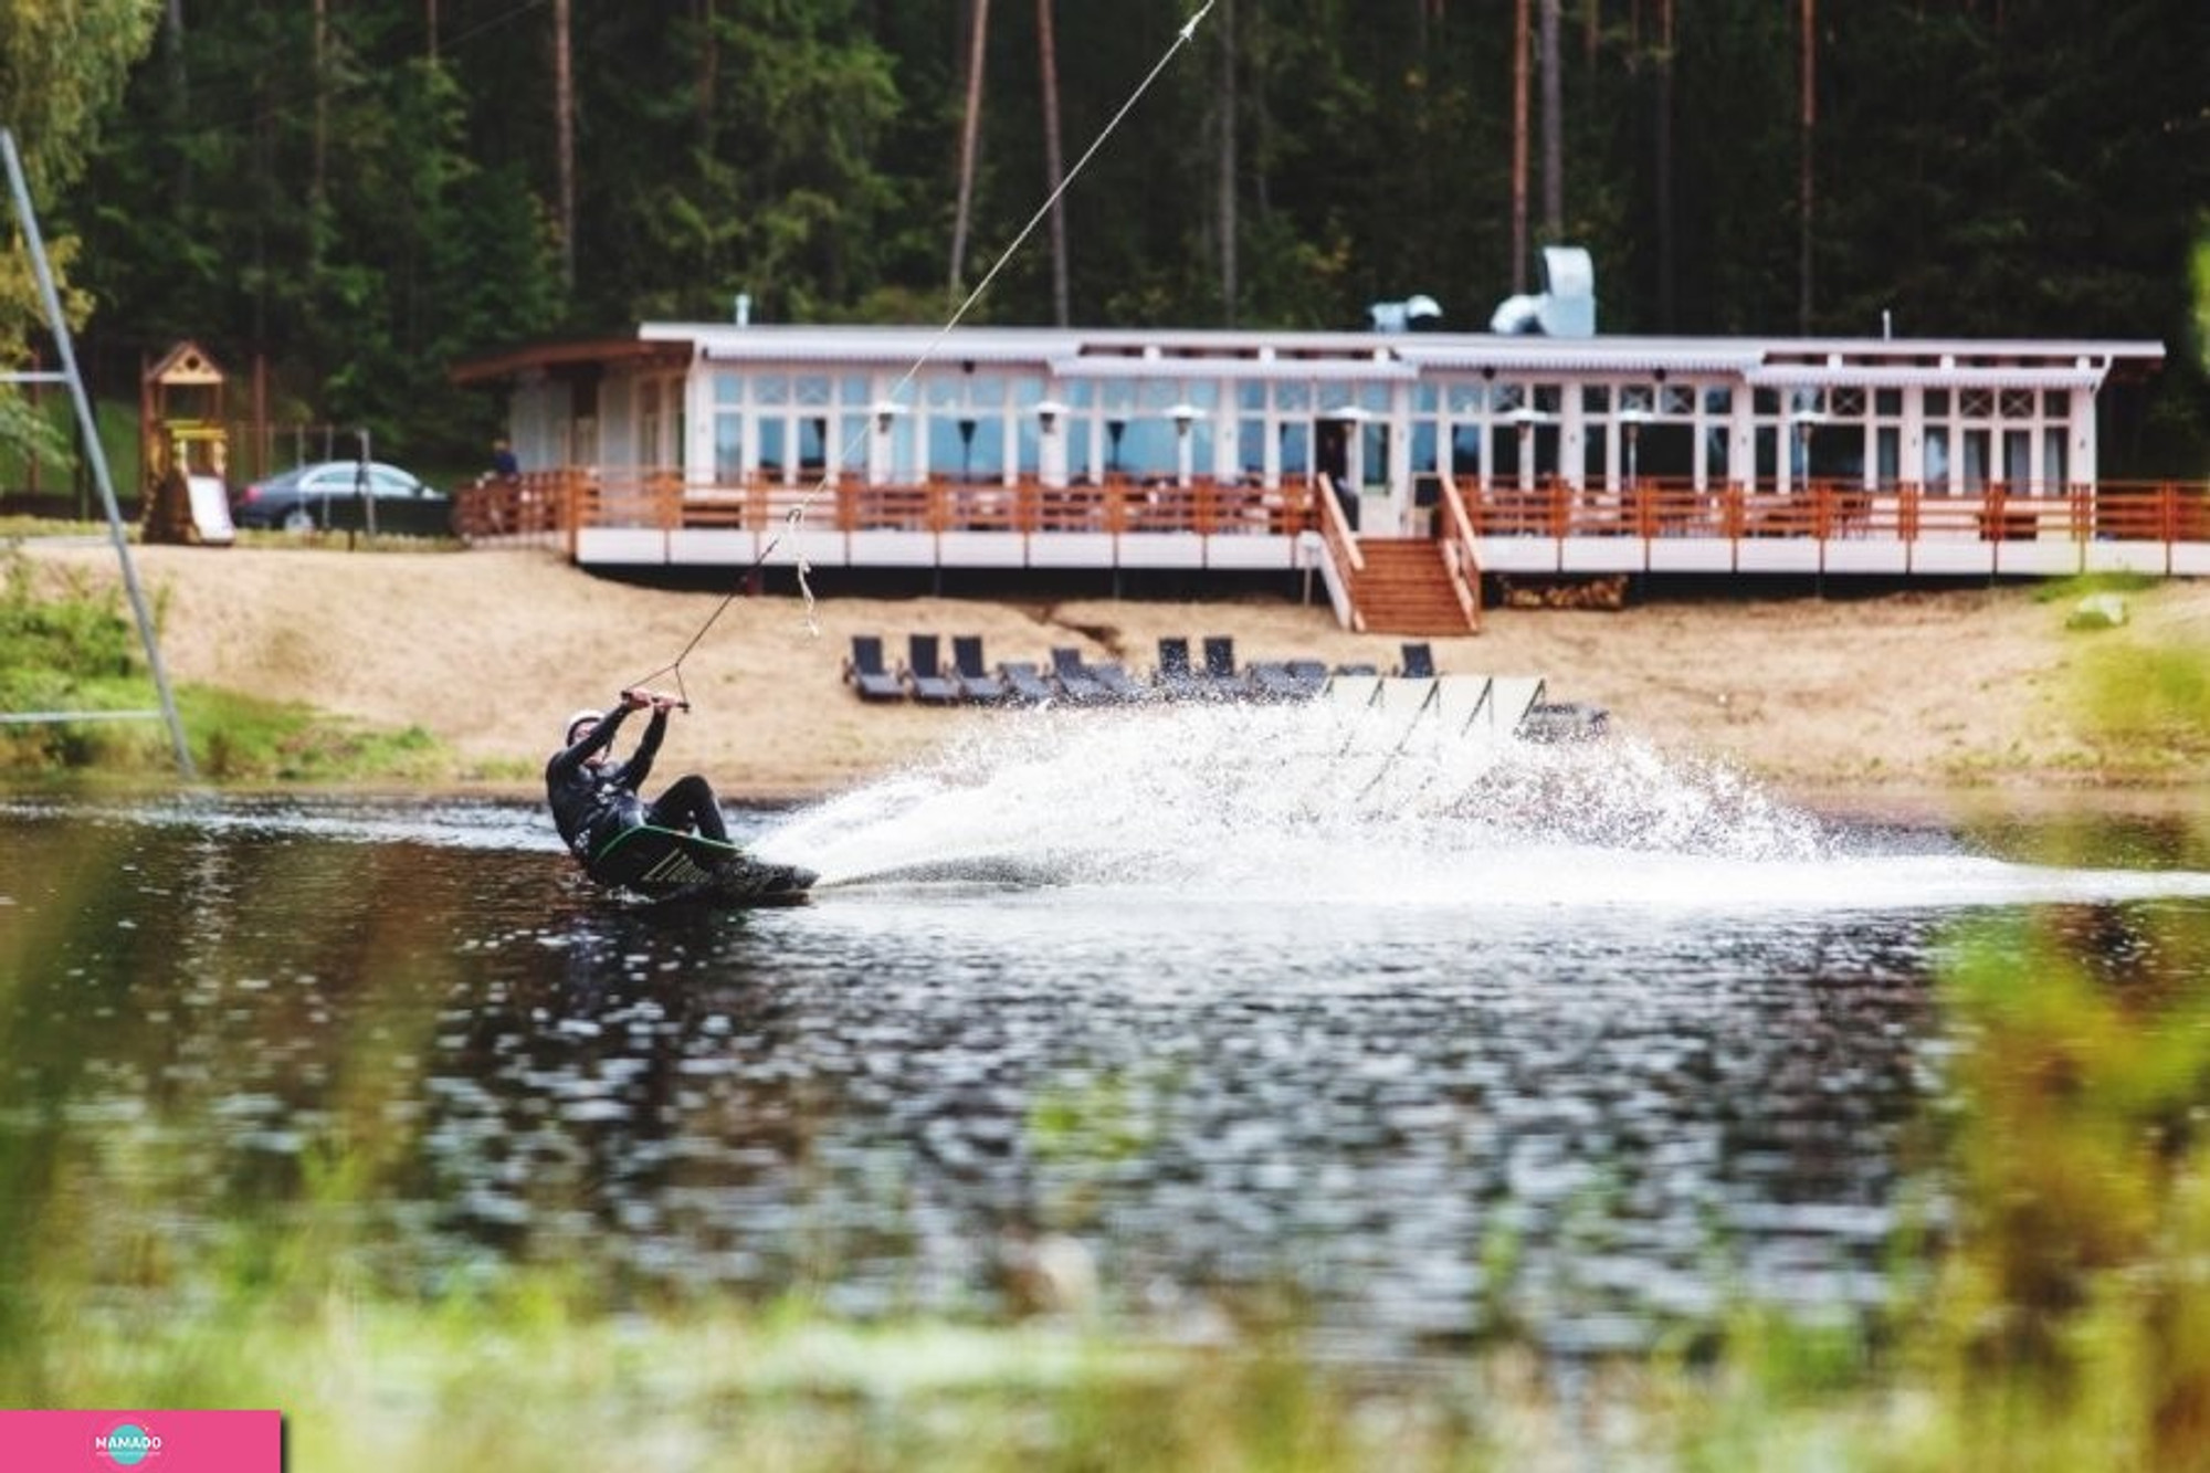
[[[400,1294],[557,1263],[862,1320],[1293,1314],[1357,1360],[1631,1349],[1739,1298],[1856,1314],[1938,1236],[1960,927],[2122,973],[2210,907],[2186,821],[2066,821],[2051,865],[2051,821],[1322,710],[1019,719],[734,818],[822,871],[809,907],[621,905],[526,803],[0,803],[0,1234],[91,1194],[93,1278],[186,1303],[336,1197]]]

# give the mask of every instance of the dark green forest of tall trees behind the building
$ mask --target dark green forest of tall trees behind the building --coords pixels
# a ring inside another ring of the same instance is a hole
[[[466,464],[473,354],[944,321],[1198,9],[7,0],[0,122],[97,391],[192,338]],[[2201,478],[2206,55],[2201,0],[1216,0],[968,321],[1483,330],[1569,241],[1613,334],[2157,338],[2104,473]]]

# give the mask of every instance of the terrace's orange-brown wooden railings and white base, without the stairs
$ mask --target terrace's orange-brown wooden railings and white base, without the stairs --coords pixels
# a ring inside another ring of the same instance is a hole
[[[1481,573],[2210,575],[2201,482],[1949,495],[1839,482],[1483,489],[1467,478],[1450,491],[1434,531]],[[1204,478],[815,489],[685,484],[650,469],[539,471],[455,500],[462,535],[552,542],[586,566],[789,566],[804,553],[824,566],[1295,571],[1313,555],[1302,533],[1333,533],[1330,555],[1344,557],[1344,529],[1324,522],[1311,484]]]

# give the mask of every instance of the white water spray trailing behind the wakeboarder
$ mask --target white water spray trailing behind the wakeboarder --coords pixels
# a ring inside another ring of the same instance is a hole
[[[1333,706],[1039,712],[791,814],[827,887],[1083,885],[1291,905],[1916,909],[2210,896],[2210,876],[1896,852],[1631,739],[1439,736]]]

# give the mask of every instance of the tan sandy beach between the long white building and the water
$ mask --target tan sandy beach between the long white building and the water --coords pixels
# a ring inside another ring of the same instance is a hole
[[[119,577],[104,542],[33,555]],[[694,708],[663,763],[705,770],[732,796],[796,798],[895,770],[970,723],[1023,719],[862,703],[842,679],[853,635],[880,635],[893,659],[911,633],[979,635],[992,661],[1043,661],[1072,644],[1136,675],[1149,675],[1162,635],[1233,635],[1246,661],[1383,670],[1401,644],[1337,628],[1324,604],[860,599],[820,568],[813,628],[793,595],[738,597],[683,655],[720,593],[597,577],[541,549],[144,546],[133,557],[177,683],[420,725],[460,754],[462,783],[488,785],[526,783],[570,710],[630,683],[672,686],[676,657]],[[2168,763],[2141,772],[2080,719],[2091,650],[2210,648],[2210,584],[2166,582],[2126,604],[2128,624],[2100,633],[2066,630],[2071,602],[2035,602],[2031,588],[1492,608],[1481,635],[1432,648],[1441,670],[1540,675],[1549,699],[1602,706],[1616,732],[1737,763],[1792,794],[2199,783]]]

